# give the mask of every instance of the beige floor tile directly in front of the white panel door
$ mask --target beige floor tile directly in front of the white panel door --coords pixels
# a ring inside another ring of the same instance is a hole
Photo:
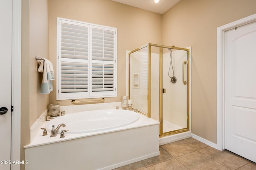
[[[241,156],[226,150],[222,151],[221,154],[213,156],[212,158],[220,164],[230,168],[231,170],[235,170],[249,163],[248,160],[242,158]]]

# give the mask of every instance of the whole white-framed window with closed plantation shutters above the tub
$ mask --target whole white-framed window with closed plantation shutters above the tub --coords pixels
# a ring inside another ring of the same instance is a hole
[[[116,31],[57,18],[57,100],[117,96]]]

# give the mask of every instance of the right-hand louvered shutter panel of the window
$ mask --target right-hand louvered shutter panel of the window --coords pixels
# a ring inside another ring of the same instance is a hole
[[[115,30],[92,27],[92,96],[102,92],[113,95],[115,66]]]

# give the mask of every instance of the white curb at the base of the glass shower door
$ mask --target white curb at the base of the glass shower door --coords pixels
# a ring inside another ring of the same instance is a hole
[[[191,132],[182,132],[182,133],[178,133],[178,134],[173,134],[170,136],[164,136],[159,138],[159,146],[163,145],[163,144],[167,144],[167,143],[171,143],[171,142],[176,142],[178,140],[182,140],[182,139],[186,139],[186,138],[190,138],[191,137]]]

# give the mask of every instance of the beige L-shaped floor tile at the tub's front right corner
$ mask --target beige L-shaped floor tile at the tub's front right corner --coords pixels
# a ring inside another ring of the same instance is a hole
[[[154,164],[158,164],[160,162],[164,162],[166,160],[169,160],[173,158],[170,154],[168,154],[165,150],[159,147],[160,155],[154,156],[152,158],[148,158],[145,160],[142,160],[141,162],[146,166],[152,166]]]

